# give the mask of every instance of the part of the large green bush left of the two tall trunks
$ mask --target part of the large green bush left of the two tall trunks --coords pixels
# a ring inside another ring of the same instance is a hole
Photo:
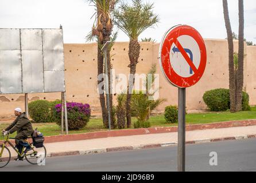
[[[230,92],[228,89],[214,89],[204,93],[203,100],[211,111],[230,109]]]

